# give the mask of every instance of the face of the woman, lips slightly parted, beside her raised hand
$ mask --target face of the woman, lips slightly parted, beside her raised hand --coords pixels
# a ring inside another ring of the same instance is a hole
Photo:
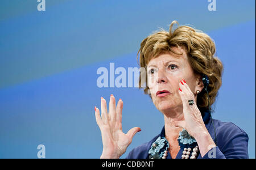
[[[182,47],[172,49],[183,55],[160,54],[159,57],[152,58],[147,65],[148,87],[152,101],[159,111],[182,108],[178,92],[180,80],[187,82],[193,94],[203,88],[198,84],[199,77],[193,73],[185,50]]]

